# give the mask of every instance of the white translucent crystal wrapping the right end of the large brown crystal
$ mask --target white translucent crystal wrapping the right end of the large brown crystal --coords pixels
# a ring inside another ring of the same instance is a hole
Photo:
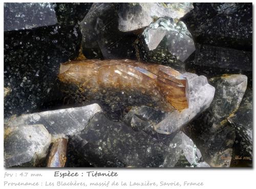
[[[134,116],[140,116],[143,119],[151,121],[152,126],[159,133],[170,134],[179,130],[186,125],[190,120],[198,116],[201,112],[209,107],[214,98],[215,88],[208,84],[206,77],[197,76],[192,73],[182,75],[187,79],[187,95],[188,108],[183,111],[174,110],[172,112],[152,111],[145,107],[137,107],[125,116],[125,122],[130,122],[135,119]],[[152,113],[153,112],[153,113]],[[158,115],[158,120],[155,116]],[[133,117],[133,120],[132,120]],[[153,122],[152,122],[153,121]]]

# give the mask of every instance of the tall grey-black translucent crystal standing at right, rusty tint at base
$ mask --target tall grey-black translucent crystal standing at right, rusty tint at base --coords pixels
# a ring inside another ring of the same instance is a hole
[[[185,133],[200,149],[211,167],[229,167],[232,146],[236,139],[234,128],[227,118],[237,111],[247,86],[245,75],[223,75],[209,79],[216,88],[209,109],[189,123]]]

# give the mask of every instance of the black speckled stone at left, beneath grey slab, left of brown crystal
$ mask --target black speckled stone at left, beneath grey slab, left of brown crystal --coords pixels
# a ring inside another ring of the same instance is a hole
[[[45,109],[59,98],[59,65],[78,55],[78,26],[52,25],[4,33],[5,117]]]

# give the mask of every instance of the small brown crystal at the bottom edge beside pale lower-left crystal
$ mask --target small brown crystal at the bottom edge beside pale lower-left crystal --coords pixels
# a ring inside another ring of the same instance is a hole
[[[64,167],[66,163],[68,140],[65,138],[58,139],[52,145],[47,167]]]

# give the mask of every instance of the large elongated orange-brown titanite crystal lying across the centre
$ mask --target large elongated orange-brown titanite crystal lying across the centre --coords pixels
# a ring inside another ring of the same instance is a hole
[[[188,107],[186,78],[167,66],[133,60],[85,60],[67,62],[60,66],[59,79],[79,88],[119,89],[141,91],[153,96],[163,111],[183,110]]]

